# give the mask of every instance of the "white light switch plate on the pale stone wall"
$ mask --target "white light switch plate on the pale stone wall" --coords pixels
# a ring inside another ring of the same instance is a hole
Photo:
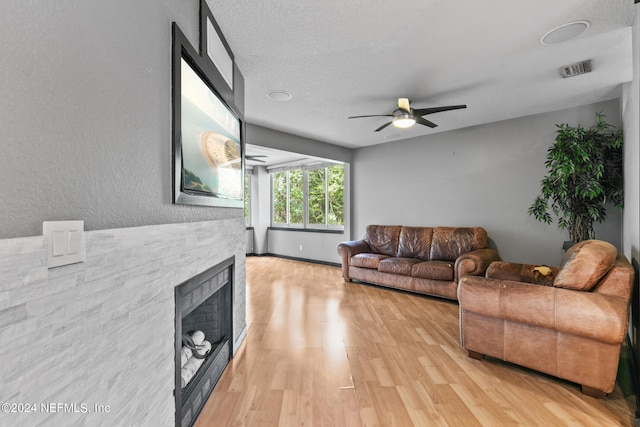
[[[84,221],[44,221],[42,234],[48,245],[49,268],[85,260]]]

